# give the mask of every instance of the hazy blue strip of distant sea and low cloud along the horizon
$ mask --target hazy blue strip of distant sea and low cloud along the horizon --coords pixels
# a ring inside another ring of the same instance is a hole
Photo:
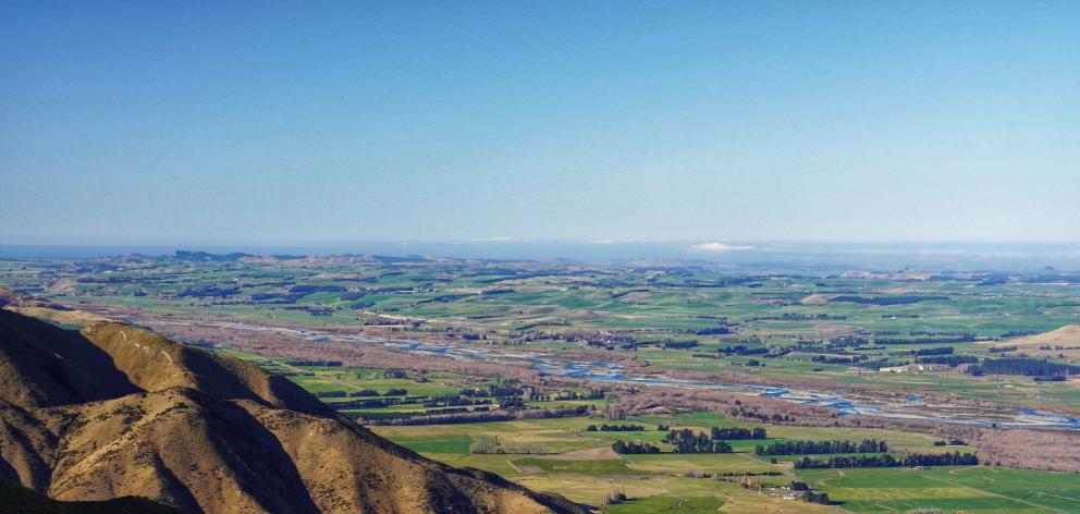
[[[356,242],[281,245],[10,245],[0,259],[82,259],[123,254],[160,256],[177,249],[255,255],[358,254],[493,260],[700,261],[763,269],[864,269],[898,271],[1080,271],[1080,243],[788,243],[788,242]]]

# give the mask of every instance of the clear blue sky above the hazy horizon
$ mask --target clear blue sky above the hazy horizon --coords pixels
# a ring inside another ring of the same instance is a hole
[[[1080,240],[1080,2],[0,2],[0,243]]]

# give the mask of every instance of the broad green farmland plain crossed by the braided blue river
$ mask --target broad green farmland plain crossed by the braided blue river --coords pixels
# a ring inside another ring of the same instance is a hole
[[[177,254],[0,261],[0,284],[253,362],[430,458],[625,497],[604,512],[1080,510],[1050,470],[1080,465],[993,442],[1080,428],[1070,274]],[[685,429],[729,453],[684,452]],[[888,450],[757,454],[866,440]],[[954,452],[980,465],[799,464]]]

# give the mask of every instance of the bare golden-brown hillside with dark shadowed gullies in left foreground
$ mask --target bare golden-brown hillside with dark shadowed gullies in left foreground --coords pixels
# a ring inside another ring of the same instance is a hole
[[[424,458],[255,365],[121,323],[0,309],[0,478],[185,512],[580,512]]]

